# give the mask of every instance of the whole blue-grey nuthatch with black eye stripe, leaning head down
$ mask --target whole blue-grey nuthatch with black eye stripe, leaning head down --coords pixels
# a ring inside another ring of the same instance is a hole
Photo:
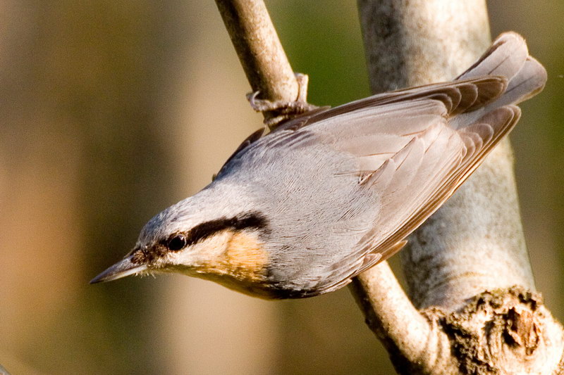
[[[91,284],[179,273],[264,299],[336,291],[397,253],[539,93],[515,32],[450,82],[317,108],[251,134],[211,184],[154,216]]]

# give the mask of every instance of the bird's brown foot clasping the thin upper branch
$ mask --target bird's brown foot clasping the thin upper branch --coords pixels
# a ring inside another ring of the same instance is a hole
[[[258,99],[259,91],[247,94],[251,108],[260,113],[271,113],[264,117],[264,125],[270,129],[274,129],[280,122],[290,120],[302,113],[319,107],[307,103],[307,82],[309,77],[302,73],[295,73],[295,79],[298,82],[298,98],[295,101],[269,101],[267,99]]]

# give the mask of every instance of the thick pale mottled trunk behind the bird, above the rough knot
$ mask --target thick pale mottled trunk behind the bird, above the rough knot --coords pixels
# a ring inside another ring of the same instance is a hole
[[[359,5],[374,90],[450,80],[489,47],[483,0]],[[410,237],[410,245],[402,255],[417,307],[451,309],[488,288],[534,289],[508,141]]]

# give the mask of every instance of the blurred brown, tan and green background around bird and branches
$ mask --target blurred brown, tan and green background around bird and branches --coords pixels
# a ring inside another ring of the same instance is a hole
[[[355,1],[266,4],[312,103],[369,95]],[[511,136],[537,287],[562,321],[564,2],[496,0],[489,12],[492,36],[520,32],[548,70]],[[272,303],[181,276],[87,284],[261,125],[247,91],[212,0],[1,2],[0,364],[13,375],[393,371],[346,288]]]

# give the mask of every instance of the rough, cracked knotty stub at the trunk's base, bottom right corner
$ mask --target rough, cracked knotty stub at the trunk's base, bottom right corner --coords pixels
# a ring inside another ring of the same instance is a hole
[[[551,374],[562,357],[562,327],[541,295],[521,286],[484,291],[457,312],[422,314],[442,326],[462,374]]]

